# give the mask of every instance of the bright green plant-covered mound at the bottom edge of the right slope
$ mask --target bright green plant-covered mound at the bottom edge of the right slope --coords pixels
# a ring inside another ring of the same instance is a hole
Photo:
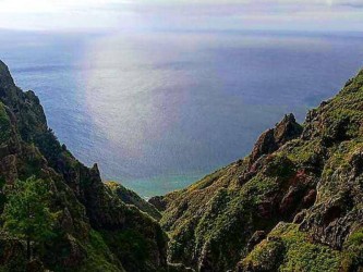
[[[311,243],[295,224],[280,223],[243,260],[242,267],[257,271],[339,271],[342,254],[328,246]]]

